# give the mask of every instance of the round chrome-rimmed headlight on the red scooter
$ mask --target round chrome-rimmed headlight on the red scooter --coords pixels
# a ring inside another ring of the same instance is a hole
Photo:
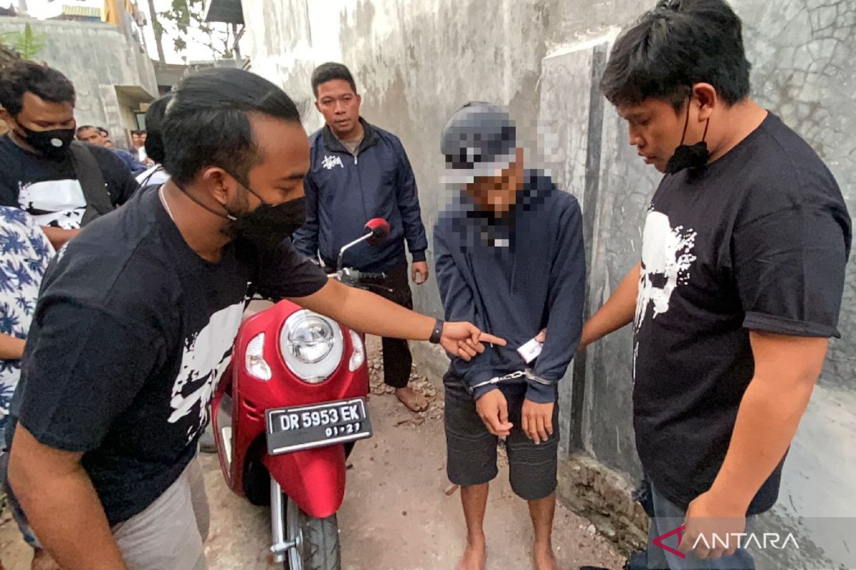
[[[279,346],[291,372],[309,384],[318,384],[342,360],[342,329],[335,321],[302,309],[285,320]]]

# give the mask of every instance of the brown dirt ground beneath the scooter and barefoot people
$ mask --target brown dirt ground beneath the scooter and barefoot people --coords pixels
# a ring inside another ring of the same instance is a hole
[[[446,479],[442,394],[414,374],[412,385],[429,397],[431,408],[413,414],[380,383],[377,356],[371,363],[369,409],[374,437],[358,443],[349,460],[348,488],[338,514],[342,568],[454,568],[466,531],[459,493],[450,489]],[[211,502],[206,544],[209,567],[266,570],[270,567],[268,509],[253,507],[229,491],[216,455],[203,455],[202,461]],[[502,454],[500,466],[499,477],[491,485],[485,521],[488,568],[524,570],[531,567],[532,528],[526,503],[508,485],[508,465]],[[563,570],[586,565],[621,568],[624,563],[587,520],[562,505],[556,510],[553,539]],[[27,556],[14,523],[0,520],[0,560],[6,570],[27,570]]]

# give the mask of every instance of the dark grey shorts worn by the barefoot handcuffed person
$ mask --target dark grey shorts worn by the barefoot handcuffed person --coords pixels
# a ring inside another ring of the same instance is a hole
[[[496,478],[495,435],[488,432],[476,403],[461,379],[447,373],[445,387],[446,471],[456,485],[482,485]],[[556,491],[556,461],[559,450],[559,404],[553,407],[553,435],[534,444],[520,428],[520,412],[526,396],[525,384],[507,384],[502,393],[508,400],[508,421],[514,424],[505,439],[508,450],[508,479],[514,493],[526,501],[549,497]]]

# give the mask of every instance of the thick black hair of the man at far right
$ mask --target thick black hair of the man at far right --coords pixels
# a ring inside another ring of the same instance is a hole
[[[734,105],[749,95],[751,67],[725,0],[660,0],[615,41],[600,88],[614,105],[653,97],[679,111],[693,85],[709,83]]]

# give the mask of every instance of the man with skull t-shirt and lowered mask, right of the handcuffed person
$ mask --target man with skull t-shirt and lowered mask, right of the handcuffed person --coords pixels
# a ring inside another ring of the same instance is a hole
[[[641,262],[580,344],[633,322],[651,568],[753,567],[735,533],[776,502],[839,336],[850,217],[815,152],[749,99],[749,69],[727,3],[664,1],[618,38],[601,82],[666,174]],[[668,548],[653,543],[663,535]]]

